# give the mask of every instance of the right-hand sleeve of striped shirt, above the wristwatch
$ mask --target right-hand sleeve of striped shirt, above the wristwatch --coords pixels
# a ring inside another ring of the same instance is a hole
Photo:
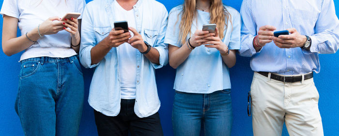
[[[315,25],[315,34],[309,37],[312,43],[309,51],[303,49],[305,54],[331,54],[338,51],[339,20],[333,0],[323,1],[322,10]]]

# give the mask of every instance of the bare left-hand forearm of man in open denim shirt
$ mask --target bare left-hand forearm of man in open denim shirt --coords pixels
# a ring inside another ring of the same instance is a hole
[[[112,48],[109,45],[105,45],[103,41],[101,41],[99,44],[95,45],[91,49],[91,61],[92,61],[91,65],[99,63],[102,59],[104,59],[106,54]]]

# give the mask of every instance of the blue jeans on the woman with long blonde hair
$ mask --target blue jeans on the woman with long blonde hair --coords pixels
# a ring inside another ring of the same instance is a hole
[[[174,136],[230,136],[231,90],[209,94],[175,91],[172,122]],[[201,127],[202,125],[202,127]]]

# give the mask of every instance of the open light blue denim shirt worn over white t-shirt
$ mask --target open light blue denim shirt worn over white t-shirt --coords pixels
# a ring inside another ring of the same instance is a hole
[[[137,51],[134,110],[142,118],[153,115],[160,107],[154,71],[168,63],[168,48],[164,44],[168,12],[155,0],[138,0],[133,7],[135,29],[160,54],[160,64],[154,64]],[[114,10],[113,0],[93,0],[86,5],[81,22],[80,62],[86,68],[95,67],[88,102],[107,116],[117,116],[120,112],[119,47],[113,47],[104,59],[93,65],[91,49],[114,28]]]

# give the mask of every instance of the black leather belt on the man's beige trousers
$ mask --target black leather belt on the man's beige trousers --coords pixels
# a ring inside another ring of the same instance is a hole
[[[262,76],[268,77],[268,72],[258,72]],[[281,82],[293,83],[293,82],[300,82],[302,80],[302,76],[279,76],[276,74],[271,73],[271,79],[278,80]],[[313,72],[310,74],[304,75],[304,80],[313,78]]]

